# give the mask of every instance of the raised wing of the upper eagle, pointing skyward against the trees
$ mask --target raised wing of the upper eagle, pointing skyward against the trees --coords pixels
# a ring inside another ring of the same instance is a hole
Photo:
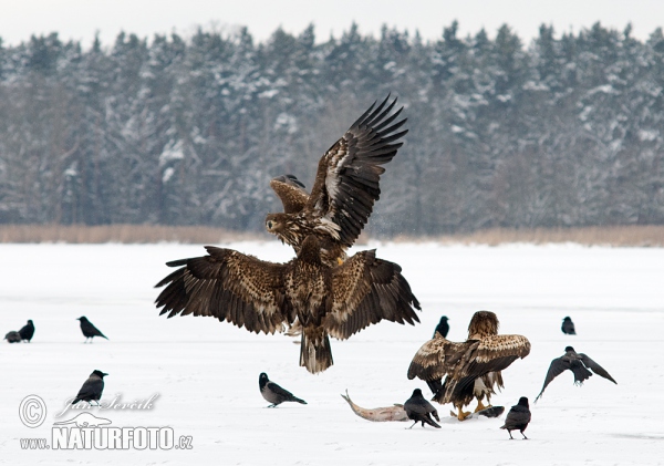
[[[397,132],[406,118],[393,123],[403,107],[391,115],[396,99],[388,100],[369,107],[321,157],[305,207],[311,218],[332,222],[346,247],[355,242],[380,198],[381,165],[392,160],[403,145],[397,141],[408,132]]]

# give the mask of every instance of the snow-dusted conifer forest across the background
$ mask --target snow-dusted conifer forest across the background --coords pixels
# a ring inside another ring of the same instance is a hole
[[[409,133],[369,231],[664,224],[664,35],[596,23],[529,44],[501,27],[436,41],[352,25],[191,38],[0,41],[0,224],[260,230],[269,180],[309,188],[375,100]]]

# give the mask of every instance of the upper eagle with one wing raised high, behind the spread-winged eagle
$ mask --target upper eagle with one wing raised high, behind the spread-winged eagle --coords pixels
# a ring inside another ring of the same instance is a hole
[[[396,99],[387,96],[369,107],[321,157],[311,194],[293,175],[270,182],[281,199],[283,213],[268,214],[266,228],[295,252],[304,238],[315,235],[321,245],[323,263],[334,267],[345,260],[369,220],[381,195],[380,179],[388,163],[403,145],[398,142],[408,131],[400,128],[403,106],[393,112]]]

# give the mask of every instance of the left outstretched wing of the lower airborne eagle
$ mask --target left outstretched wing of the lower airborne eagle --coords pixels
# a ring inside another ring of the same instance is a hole
[[[274,333],[294,315],[283,291],[287,265],[206,246],[208,256],[167,262],[179,267],[159,281],[159,315],[211,315],[250,332]]]

